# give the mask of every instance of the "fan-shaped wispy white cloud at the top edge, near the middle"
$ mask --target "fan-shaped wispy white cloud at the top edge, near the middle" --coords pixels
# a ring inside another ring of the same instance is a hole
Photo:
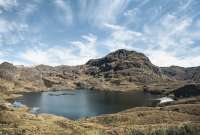
[[[127,0],[80,0],[79,17],[96,26],[115,23],[117,17],[127,8]]]

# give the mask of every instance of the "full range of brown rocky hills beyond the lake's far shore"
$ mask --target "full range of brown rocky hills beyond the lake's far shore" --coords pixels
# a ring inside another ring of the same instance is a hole
[[[35,67],[0,64],[0,87],[5,91],[88,88],[169,92],[200,82],[200,67],[158,67],[142,53],[120,49],[80,66]]]

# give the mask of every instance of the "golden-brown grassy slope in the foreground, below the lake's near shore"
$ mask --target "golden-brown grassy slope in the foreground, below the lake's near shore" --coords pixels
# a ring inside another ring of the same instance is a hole
[[[198,135],[200,104],[139,107],[116,114],[72,121],[35,116],[27,108],[0,106],[0,134],[8,135]]]

